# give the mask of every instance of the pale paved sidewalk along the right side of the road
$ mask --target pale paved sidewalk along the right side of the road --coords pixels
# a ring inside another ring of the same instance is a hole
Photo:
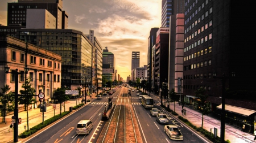
[[[155,97],[159,97],[159,96],[155,96]],[[158,99],[158,101],[160,103],[160,99]],[[170,103],[170,109],[174,110],[174,102]],[[179,114],[179,116],[183,116],[183,118],[187,119],[193,125],[196,125],[196,127],[201,127],[201,124],[202,124],[201,113],[189,108],[188,105],[184,105],[184,109],[186,109],[187,111],[186,115],[182,115],[181,105],[179,106],[178,102],[175,103],[175,112]],[[220,124],[221,124],[220,120],[204,115],[203,128],[209,132],[210,132],[210,129],[212,129],[212,133],[213,133],[213,128],[217,128],[217,135],[219,137],[220,137],[220,131],[221,131]],[[225,140],[229,140],[232,143],[256,142],[253,139],[254,139],[254,136],[252,134],[242,132],[240,128],[234,127],[229,124],[225,124]]]

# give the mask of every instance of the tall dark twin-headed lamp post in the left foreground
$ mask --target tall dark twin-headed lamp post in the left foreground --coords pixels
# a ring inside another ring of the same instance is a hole
[[[10,67],[6,66],[5,67],[5,73],[12,73],[15,75],[15,98],[14,98],[14,117],[15,117],[15,123],[14,123],[14,142],[18,142],[18,122],[19,122],[19,110],[18,110],[18,80],[19,80],[19,75],[21,74],[27,74],[30,68],[25,67],[24,71],[25,72],[18,72],[18,69],[15,71],[9,72]]]

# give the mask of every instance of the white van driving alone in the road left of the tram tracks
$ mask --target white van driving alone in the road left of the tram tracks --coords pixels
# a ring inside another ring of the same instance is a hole
[[[93,123],[90,120],[80,120],[80,122],[77,123],[76,133],[78,135],[89,134],[92,128],[93,128]]]

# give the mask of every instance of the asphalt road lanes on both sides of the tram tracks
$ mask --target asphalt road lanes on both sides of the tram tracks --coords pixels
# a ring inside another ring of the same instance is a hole
[[[124,89],[127,90],[127,88],[123,87],[123,90]],[[120,91],[121,89],[118,89],[117,92],[113,94],[113,102],[115,102],[115,97],[118,96]],[[59,122],[48,127],[35,137],[27,140],[27,142],[96,142],[105,124],[105,121],[101,121],[101,113],[104,110],[106,103],[108,103],[108,97],[109,96],[103,96],[102,99],[94,99],[89,105],[73,112],[73,114],[67,116],[67,118],[61,119]],[[155,107],[160,110],[157,98],[153,98],[155,99]],[[139,100],[139,96],[136,95],[136,92],[131,92],[131,101],[133,103],[135,114],[137,115],[143,142],[207,142],[197,135],[196,132],[188,129],[186,125],[179,123],[179,121],[166,112],[167,116],[169,116],[169,124],[176,124],[183,133],[184,138],[183,141],[170,140],[166,133],[164,133],[164,125],[156,122],[155,116],[150,115],[149,109],[144,109],[140,104],[141,100]],[[83,119],[92,120],[93,129],[89,135],[77,136],[76,125]]]

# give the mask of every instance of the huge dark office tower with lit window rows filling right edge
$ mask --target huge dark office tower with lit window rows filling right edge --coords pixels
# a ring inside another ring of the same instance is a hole
[[[241,107],[255,110],[255,98],[246,92],[256,86],[255,53],[251,52],[255,40],[250,36],[255,27],[253,6],[253,1],[185,1],[183,76],[185,102],[193,103],[195,90],[204,87],[212,109],[216,110],[221,105],[219,97],[226,93],[225,105],[233,106],[232,113],[226,112],[226,116],[253,123],[251,132],[255,130],[255,116],[251,119],[236,112]],[[238,19],[241,11],[243,15]],[[217,72],[218,78],[213,78],[213,72]]]

